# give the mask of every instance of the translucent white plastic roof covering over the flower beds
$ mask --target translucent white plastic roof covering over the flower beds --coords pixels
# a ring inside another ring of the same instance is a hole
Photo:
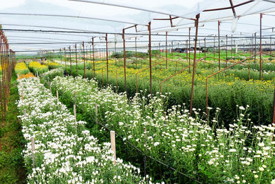
[[[80,0],[82,1],[82,0]],[[199,18],[199,39],[204,39],[207,35],[217,35],[217,21],[221,21],[221,35],[231,35],[231,24],[233,13],[232,9],[203,12],[203,10],[224,8],[230,6],[229,0],[195,0],[189,1],[174,1],[174,3],[168,3],[166,1],[157,1],[157,5],[146,1],[122,1],[122,0],[83,0],[94,1],[97,3],[85,3],[79,1],[67,1],[67,0],[25,0],[21,6],[13,8],[0,9],[0,13],[27,13],[27,14],[55,14],[55,15],[69,15],[73,17],[52,17],[52,16],[22,16],[22,15],[10,15],[1,14],[0,23],[3,24],[3,29],[27,29],[27,30],[63,30],[63,31],[94,31],[94,32],[117,32],[122,33],[123,28],[127,28],[131,25],[137,24],[137,33],[148,34],[146,24],[152,21],[151,30],[152,34],[168,34],[181,35],[178,37],[168,36],[169,44],[173,40],[182,40],[185,43],[188,37],[182,35],[188,35],[188,27],[194,26],[196,14],[200,13]],[[233,4],[246,2],[248,0],[233,0]],[[122,6],[129,6],[133,8],[140,8],[142,10],[134,10],[129,8],[120,8],[118,6],[107,6],[98,3],[113,3]],[[141,2],[143,2],[141,4]],[[144,3],[146,2],[146,3]],[[155,1],[156,2],[156,1]],[[176,3],[175,3],[176,2]],[[190,6],[190,3],[193,6]],[[251,36],[252,33],[257,32],[259,35],[259,13],[266,12],[273,14],[275,10],[274,0],[256,0],[251,3],[247,3],[243,6],[235,8],[236,15],[239,17],[237,23],[236,32],[234,36]],[[161,12],[156,13],[156,12]],[[153,19],[168,19],[168,14],[173,17],[181,17],[173,19],[173,25],[170,27],[170,21],[157,21]],[[77,18],[78,17],[78,18]],[[84,19],[80,17],[92,17],[98,19],[110,19],[112,22],[95,19]],[[190,19],[183,19],[190,18]],[[274,17],[264,15],[263,29],[275,27]],[[34,27],[36,26],[36,27]],[[41,27],[39,27],[41,26]],[[44,26],[44,28],[43,28]],[[47,28],[45,28],[47,27]],[[135,28],[130,28],[125,31],[126,33],[135,34]],[[191,35],[195,34],[195,28],[191,28]],[[263,34],[273,34],[272,30],[263,30]],[[104,37],[105,34],[80,34],[80,33],[34,33],[34,32],[16,32],[5,31],[5,35],[8,37],[9,43],[34,43],[34,42],[62,42],[56,44],[36,44],[36,45],[16,45],[10,44],[10,48],[14,51],[19,50],[50,50],[71,47],[74,42],[79,41],[91,41],[91,37],[95,38],[95,41],[104,42],[104,39],[98,37]],[[126,35],[126,41],[134,41],[136,35]],[[192,38],[193,39],[193,38]],[[208,37],[206,39],[213,39]],[[108,34],[109,41],[121,41],[121,35]],[[153,41],[164,41],[164,36],[152,36]],[[137,47],[145,46],[148,37],[146,35],[137,36],[137,41],[144,41],[144,43],[137,43]],[[69,43],[65,43],[69,42]],[[202,42],[202,41],[201,41]],[[245,42],[245,40],[243,41]],[[177,41],[175,41],[175,44]],[[153,42],[153,45],[159,43]],[[161,43],[164,44],[164,43]],[[118,46],[118,45],[117,45]],[[78,43],[78,47],[80,44]],[[96,43],[96,48],[104,48],[104,43]],[[109,47],[113,47],[112,44]],[[118,46],[120,47],[120,46]],[[133,47],[132,43],[127,43],[126,47]],[[139,50],[138,50],[139,51]]]

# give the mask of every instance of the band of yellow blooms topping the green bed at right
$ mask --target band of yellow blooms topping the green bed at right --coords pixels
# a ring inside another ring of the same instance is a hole
[[[121,63],[121,62],[120,62]],[[157,63],[157,61],[154,61],[153,63]],[[173,63],[175,65],[175,63]],[[217,72],[217,69],[214,69],[213,71],[208,68],[200,68],[199,65],[203,65],[205,63],[198,63],[197,69],[196,69],[196,75],[195,75],[195,85],[201,85],[201,87],[205,88],[206,85],[206,77],[210,76],[211,74],[214,74],[214,72]],[[139,64],[140,65],[140,64]],[[153,65],[153,64],[152,64]],[[96,61],[95,64],[95,70],[97,76],[105,76],[107,74],[106,69],[106,61]],[[181,65],[177,65],[177,71],[181,69]],[[143,71],[142,71],[143,70]],[[188,68],[186,70],[180,72],[179,74],[173,76],[172,78],[168,79],[162,85],[172,85],[172,86],[185,86],[185,85],[191,85],[192,83],[192,67],[190,67],[190,73],[188,72]],[[157,83],[157,86],[159,86],[159,83],[167,79],[169,76],[172,76],[175,74],[175,69],[171,70],[162,66],[162,70],[155,69],[155,66],[152,66],[152,79],[153,83]],[[126,68],[126,79],[127,81],[135,81],[135,78],[137,76],[137,82],[140,81],[149,81],[150,79],[150,73],[148,69],[148,65],[143,65],[142,68]],[[109,61],[109,78],[113,79],[122,79],[124,78],[124,68],[123,66],[117,66],[115,65],[115,61]],[[239,83],[241,85],[247,86],[247,85],[253,85],[258,90],[263,90],[263,88],[273,88],[274,86],[274,80],[272,81],[259,81],[259,80],[250,80],[245,81],[244,79],[239,79],[238,77],[234,76],[234,74],[227,74],[225,75],[224,72],[221,72],[220,74],[217,74],[215,76],[212,76],[208,79],[208,85],[212,86],[220,86],[220,85],[234,85],[235,83]]]

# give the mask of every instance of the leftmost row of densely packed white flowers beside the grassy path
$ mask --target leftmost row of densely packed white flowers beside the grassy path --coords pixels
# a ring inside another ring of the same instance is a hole
[[[114,165],[111,144],[100,145],[38,78],[18,82],[28,183],[151,183],[121,159]]]

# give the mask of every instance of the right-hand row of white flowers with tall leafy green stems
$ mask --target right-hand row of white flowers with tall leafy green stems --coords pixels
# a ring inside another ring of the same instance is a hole
[[[146,170],[155,179],[166,178],[171,183],[193,182],[194,179],[201,183],[275,182],[274,127],[254,125],[248,114],[249,106],[235,107],[238,117],[226,128],[218,116],[210,121],[201,119],[200,109],[193,109],[194,118],[188,116],[188,110],[181,105],[166,109],[167,97],[161,94],[135,94],[128,100],[125,93],[101,89],[94,80],[72,76],[56,76],[52,91],[56,90],[65,104],[76,103],[87,127],[98,128],[98,135],[107,134],[106,127],[115,130],[123,137],[118,147],[124,147],[129,141],[177,170],[173,172],[150,161]],[[226,110],[212,111],[219,114]],[[100,128],[96,120],[104,127]],[[123,158],[138,159],[133,147],[120,154],[124,154]]]

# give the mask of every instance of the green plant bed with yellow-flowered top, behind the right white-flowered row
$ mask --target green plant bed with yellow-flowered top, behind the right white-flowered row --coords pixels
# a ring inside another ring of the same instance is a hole
[[[124,68],[115,67],[113,64],[115,61],[109,61],[109,63],[111,63],[109,65],[109,84],[113,86],[113,90],[124,92]],[[206,63],[198,63],[197,65],[193,107],[200,108],[201,112],[206,112],[206,77],[213,74],[213,72],[217,72],[217,69],[214,69],[212,72],[209,69],[201,68],[201,65],[206,65]],[[93,79],[94,71],[92,63],[87,63],[86,68],[85,76]],[[192,71],[192,68],[190,70]],[[135,92],[140,90],[144,92],[146,90],[146,95],[150,94],[150,76],[148,70],[137,74],[138,71],[140,70],[126,68],[126,93],[128,97],[135,96]],[[174,72],[171,70],[153,69],[153,94],[160,91],[159,83],[174,74]],[[71,74],[69,67],[67,67],[67,73]],[[95,73],[100,86],[107,85],[106,61],[96,62]],[[72,75],[78,76],[78,74],[84,76],[83,65],[81,64],[78,64],[78,69],[76,69],[75,65],[72,66]],[[220,113],[220,117],[225,124],[228,124],[233,119],[236,119],[236,105],[250,105],[249,113],[252,114],[250,119],[257,124],[269,124],[272,121],[274,79],[270,77],[272,80],[260,81],[251,79],[250,81],[246,81],[245,79],[239,79],[238,75],[242,77],[245,75],[248,76],[248,70],[229,70],[208,79],[208,106],[225,109],[226,111]],[[250,71],[250,75],[259,77],[259,73],[257,74],[257,72],[253,71]],[[170,93],[168,100],[169,107],[181,105],[182,103],[186,103],[186,108],[190,107],[191,83],[192,72],[189,73],[188,68],[162,83],[162,94]],[[214,116],[214,113],[210,113],[210,116]]]

